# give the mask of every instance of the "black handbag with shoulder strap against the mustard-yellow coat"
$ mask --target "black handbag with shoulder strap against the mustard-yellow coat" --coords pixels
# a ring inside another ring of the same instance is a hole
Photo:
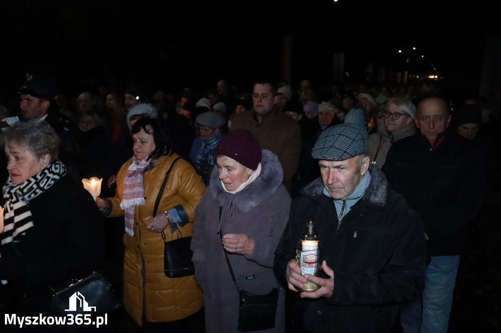
[[[172,164],[170,165],[167,172],[165,172],[165,178],[163,179],[162,186],[158,191],[158,195],[155,201],[155,206],[153,208],[153,216],[156,216],[156,212],[158,209],[158,204],[160,203],[160,199],[162,197],[163,190],[165,188],[165,184],[167,183],[167,179],[169,178],[170,171],[174,166],[175,162],[181,157],[177,157],[174,159]],[[181,231],[179,230],[181,234]],[[167,277],[183,277],[188,275],[193,275],[195,273],[195,266],[191,261],[191,257],[193,256],[193,252],[191,251],[191,236],[190,237],[181,237],[178,239],[165,241],[165,232],[162,231],[162,238],[165,243],[164,248],[164,256],[163,256],[163,268],[165,271],[165,276]]]

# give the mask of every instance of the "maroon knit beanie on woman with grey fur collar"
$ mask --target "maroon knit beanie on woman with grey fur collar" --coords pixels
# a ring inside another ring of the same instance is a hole
[[[251,170],[256,170],[261,161],[261,146],[256,136],[248,129],[235,129],[219,141],[214,155],[227,156]]]

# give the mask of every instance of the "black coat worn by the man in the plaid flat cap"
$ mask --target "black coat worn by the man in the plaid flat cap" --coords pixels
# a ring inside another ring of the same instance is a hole
[[[291,218],[276,250],[275,269],[286,281],[300,235],[313,219],[320,237],[320,262],[334,270],[331,297],[297,299],[299,331],[388,332],[399,304],[424,285],[425,240],[419,214],[391,190],[381,170],[370,165],[363,197],[338,226],[334,200],[318,178],[292,204]],[[328,276],[321,272],[321,277]],[[309,327],[305,329],[304,326]]]

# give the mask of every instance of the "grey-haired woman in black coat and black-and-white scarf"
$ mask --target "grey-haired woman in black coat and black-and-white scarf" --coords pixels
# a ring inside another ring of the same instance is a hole
[[[13,313],[52,315],[51,294],[41,291],[99,268],[102,216],[58,160],[60,140],[47,122],[20,121],[3,141],[9,177],[2,188],[0,280],[14,294],[3,301]]]

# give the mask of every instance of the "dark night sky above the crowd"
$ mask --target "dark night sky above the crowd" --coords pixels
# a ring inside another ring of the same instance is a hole
[[[329,80],[334,52],[346,54],[354,77],[369,61],[401,69],[397,49],[414,45],[426,55],[418,68],[431,61],[449,78],[458,68],[477,76],[485,36],[499,35],[498,3],[4,0],[0,88],[16,89],[26,70],[50,73],[68,90],[85,77],[151,87],[278,79],[286,34],[293,83]]]

